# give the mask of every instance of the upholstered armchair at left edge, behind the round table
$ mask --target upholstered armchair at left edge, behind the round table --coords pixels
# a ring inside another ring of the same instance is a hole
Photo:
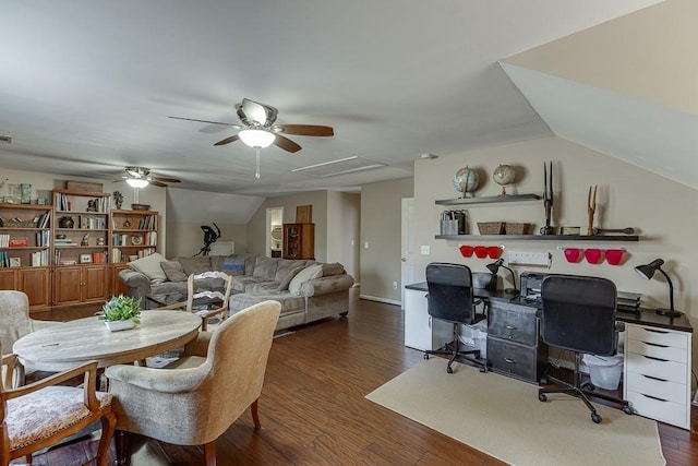
[[[14,342],[32,332],[49,325],[62,325],[62,322],[37,321],[29,318],[29,299],[22,291],[0,291],[0,344],[5,351],[12,353]],[[19,361],[15,366],[14,386],[23,385],[25,373],[35,372]]]

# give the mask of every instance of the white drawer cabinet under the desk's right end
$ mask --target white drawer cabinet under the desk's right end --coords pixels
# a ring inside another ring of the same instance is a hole
[[[691,334],[626,323],[624,397],[641,415],[690,429]]]

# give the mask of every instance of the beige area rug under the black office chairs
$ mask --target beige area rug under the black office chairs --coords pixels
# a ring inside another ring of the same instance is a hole
[[[665,465],[657,422],[569,395],[538,399],[538,387],[431,358],[366,398],[514,465]]]

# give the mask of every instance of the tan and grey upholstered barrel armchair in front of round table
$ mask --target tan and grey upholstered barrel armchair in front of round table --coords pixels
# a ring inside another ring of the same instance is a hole
[[[216,439],[257,398],[281,304],[264,301],[227,319],[215,333],[201,332],[182,358],[163,369],[112,366],[117,429],[178,445],[204,445],[216,464]],[[123,459],[125,439],[118,442]]]

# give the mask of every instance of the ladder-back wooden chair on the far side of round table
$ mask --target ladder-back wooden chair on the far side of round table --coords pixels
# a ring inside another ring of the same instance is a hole
[[[225,272],[210,271],[201,274],[191,274],[186,278],[186,301],[158,308],[160,310],[185,309],[202,319],[201,330],[208,331],[209,319],[218,318],[215,327],[228,318],[228,301],[232,289],[232,276]],[[220,304],[212,307],[212,300]],[[203,301],[203,302],[202,302]],[[214,330],[214,328],[212,328]]]

